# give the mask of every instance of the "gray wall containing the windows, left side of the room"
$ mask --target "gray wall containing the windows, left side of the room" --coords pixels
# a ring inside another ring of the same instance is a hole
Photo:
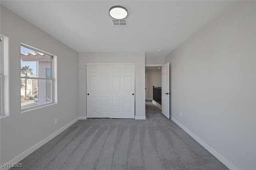
[[[7,163],[78,118],[78,53],[4,6],[1,34],[10,40],[10,108],[5,109],[8,116],[0,119],[1,163]],[[57,104],[21,113],[20,42],[57,56]]]

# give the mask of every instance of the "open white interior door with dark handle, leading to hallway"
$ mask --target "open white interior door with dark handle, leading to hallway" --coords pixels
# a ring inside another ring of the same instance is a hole
[[[169,63],[162,66],[162,114],[170,118]]]

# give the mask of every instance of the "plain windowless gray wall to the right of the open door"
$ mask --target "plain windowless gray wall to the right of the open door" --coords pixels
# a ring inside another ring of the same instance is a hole
[[[255,22],[256,2],[239,2],[165,58],[172,117],[231,169],[256,169]]]

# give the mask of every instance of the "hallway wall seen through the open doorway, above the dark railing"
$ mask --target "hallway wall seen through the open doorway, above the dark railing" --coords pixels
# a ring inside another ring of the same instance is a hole
[[[148,79],[148,100],[153,99],[153,86],[161,87],[162,86],[162,74],[161,69],[159,70],[146,70],[147,79]]]

